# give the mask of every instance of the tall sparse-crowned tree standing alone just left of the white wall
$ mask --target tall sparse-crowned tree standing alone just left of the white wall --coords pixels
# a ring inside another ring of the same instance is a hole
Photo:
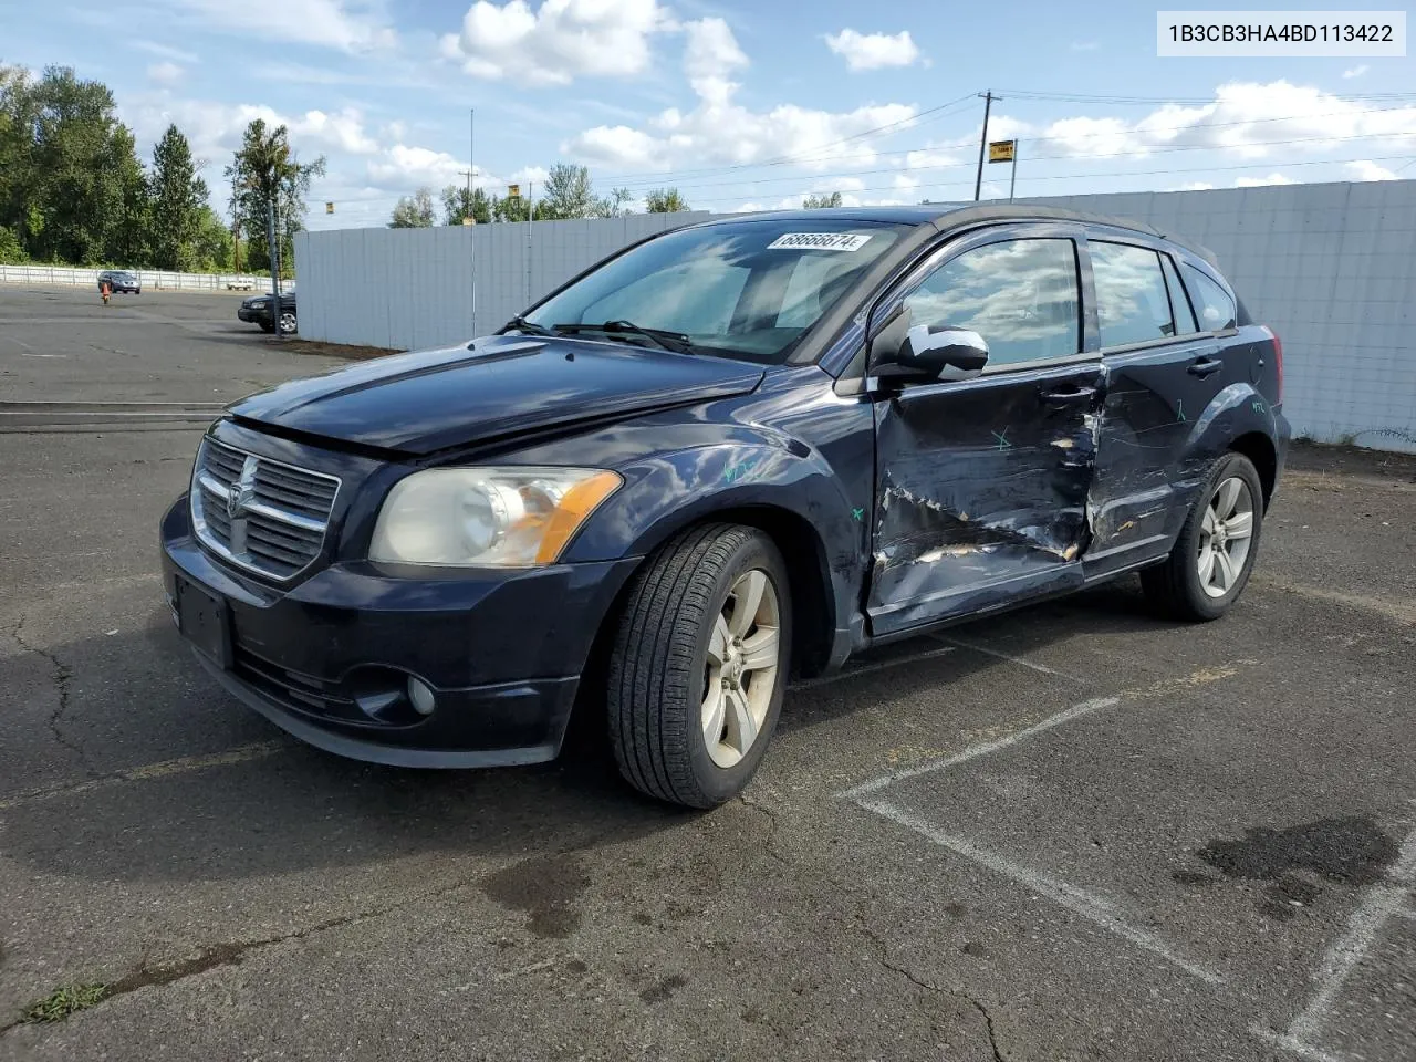
[[[266,211],[273,205],[282,273],[289,275],[295,265],[295,234],[304,228],[304,200],[310,181],[324,176],[324,156],[302,163],[290,147],[289,130],[285,126],[270,129],[258,118],[246,126],[241,149],[225,174],[235,188],[231,217],[245,238],[245,268],[270,269]]]

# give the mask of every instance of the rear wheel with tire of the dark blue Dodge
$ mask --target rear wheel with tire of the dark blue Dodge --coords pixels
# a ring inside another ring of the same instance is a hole
[[[1219,619],[1249,582],[1262,531],[1259,473],[1243,455],[1226,453],[1209,470],[1170,558],[1141,572],[1146,596],[1175,619]]]

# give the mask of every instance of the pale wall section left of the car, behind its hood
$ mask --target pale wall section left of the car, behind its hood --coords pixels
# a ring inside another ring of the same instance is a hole
[[[300,232],[300,336],[394,350],[462,343],[626,244],[708,217]]]

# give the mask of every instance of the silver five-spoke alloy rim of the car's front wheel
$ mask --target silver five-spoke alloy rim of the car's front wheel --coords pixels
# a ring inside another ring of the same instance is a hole
[[[741,762],[762,732],[780,658],[777,590],[766,572],[753,568],[733,582],[708,640],[702,729],[708,756],[719,767]]]

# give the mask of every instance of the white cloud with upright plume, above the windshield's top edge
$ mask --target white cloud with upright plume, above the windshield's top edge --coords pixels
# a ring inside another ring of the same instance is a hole
[[[688,112],[663,110],[650,119],[647,129],[626,125],[588,129],[562,143],[562,153],[632,170],[750,164],[783,156],[803,157],[807,170],[830,170],[874,160],[875,150],[861,135],[915,115],[915,108],[903,103],[867,105],[848,112],[793,103],[749,110],[732,99],[736,85],[728,74],[746,65],[746,57],[726,23],[704,18],[684,30],[684,69],[698,106]]]

